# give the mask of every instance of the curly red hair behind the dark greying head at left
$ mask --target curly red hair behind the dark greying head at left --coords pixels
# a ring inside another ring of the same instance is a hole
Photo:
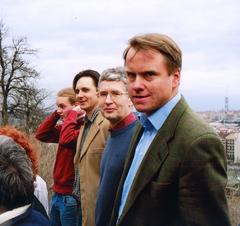
[[[9,125],[0,127],[0,135],[11,137],[17,144],[25,149],[27,156],[32,162],[33,174],[36,176],[38,173],[37,148],[30,138],[22,131]]]

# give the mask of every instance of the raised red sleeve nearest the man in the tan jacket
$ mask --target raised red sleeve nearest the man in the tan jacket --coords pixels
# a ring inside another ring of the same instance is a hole
[[[82,121],[78,121],[78,114],[71,110],[65,118],[59,136],[60,145],[76,145],[77,138],[82,125]]]

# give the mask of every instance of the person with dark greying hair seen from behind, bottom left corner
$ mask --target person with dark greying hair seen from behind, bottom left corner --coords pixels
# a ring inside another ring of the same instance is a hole
[[[34,210],[34,174],[26,151],[12,138],[0,135],[0,225],[49,226]]]

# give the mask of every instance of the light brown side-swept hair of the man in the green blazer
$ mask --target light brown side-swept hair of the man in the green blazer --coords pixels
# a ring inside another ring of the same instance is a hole
[[[170,73],[182,68],[182,51],[173,39],[167,35],[148,33],[134,36],[129,40],[129,45],[123,53],[125,61],[130,48],[134,48],[136,51],[152,49],[160,52],[166,59]]]

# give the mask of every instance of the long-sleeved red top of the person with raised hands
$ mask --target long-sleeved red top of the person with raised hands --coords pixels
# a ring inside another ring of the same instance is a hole
[[[53,169],[53,190],[59,194],[71,195],[74,182],[73,158],[77,137],[83,121],[77,120],[77,112],[70,111],[62,124],[57,112],[53,112],[38,127],[36,138],[46,143],[58,143]]]

